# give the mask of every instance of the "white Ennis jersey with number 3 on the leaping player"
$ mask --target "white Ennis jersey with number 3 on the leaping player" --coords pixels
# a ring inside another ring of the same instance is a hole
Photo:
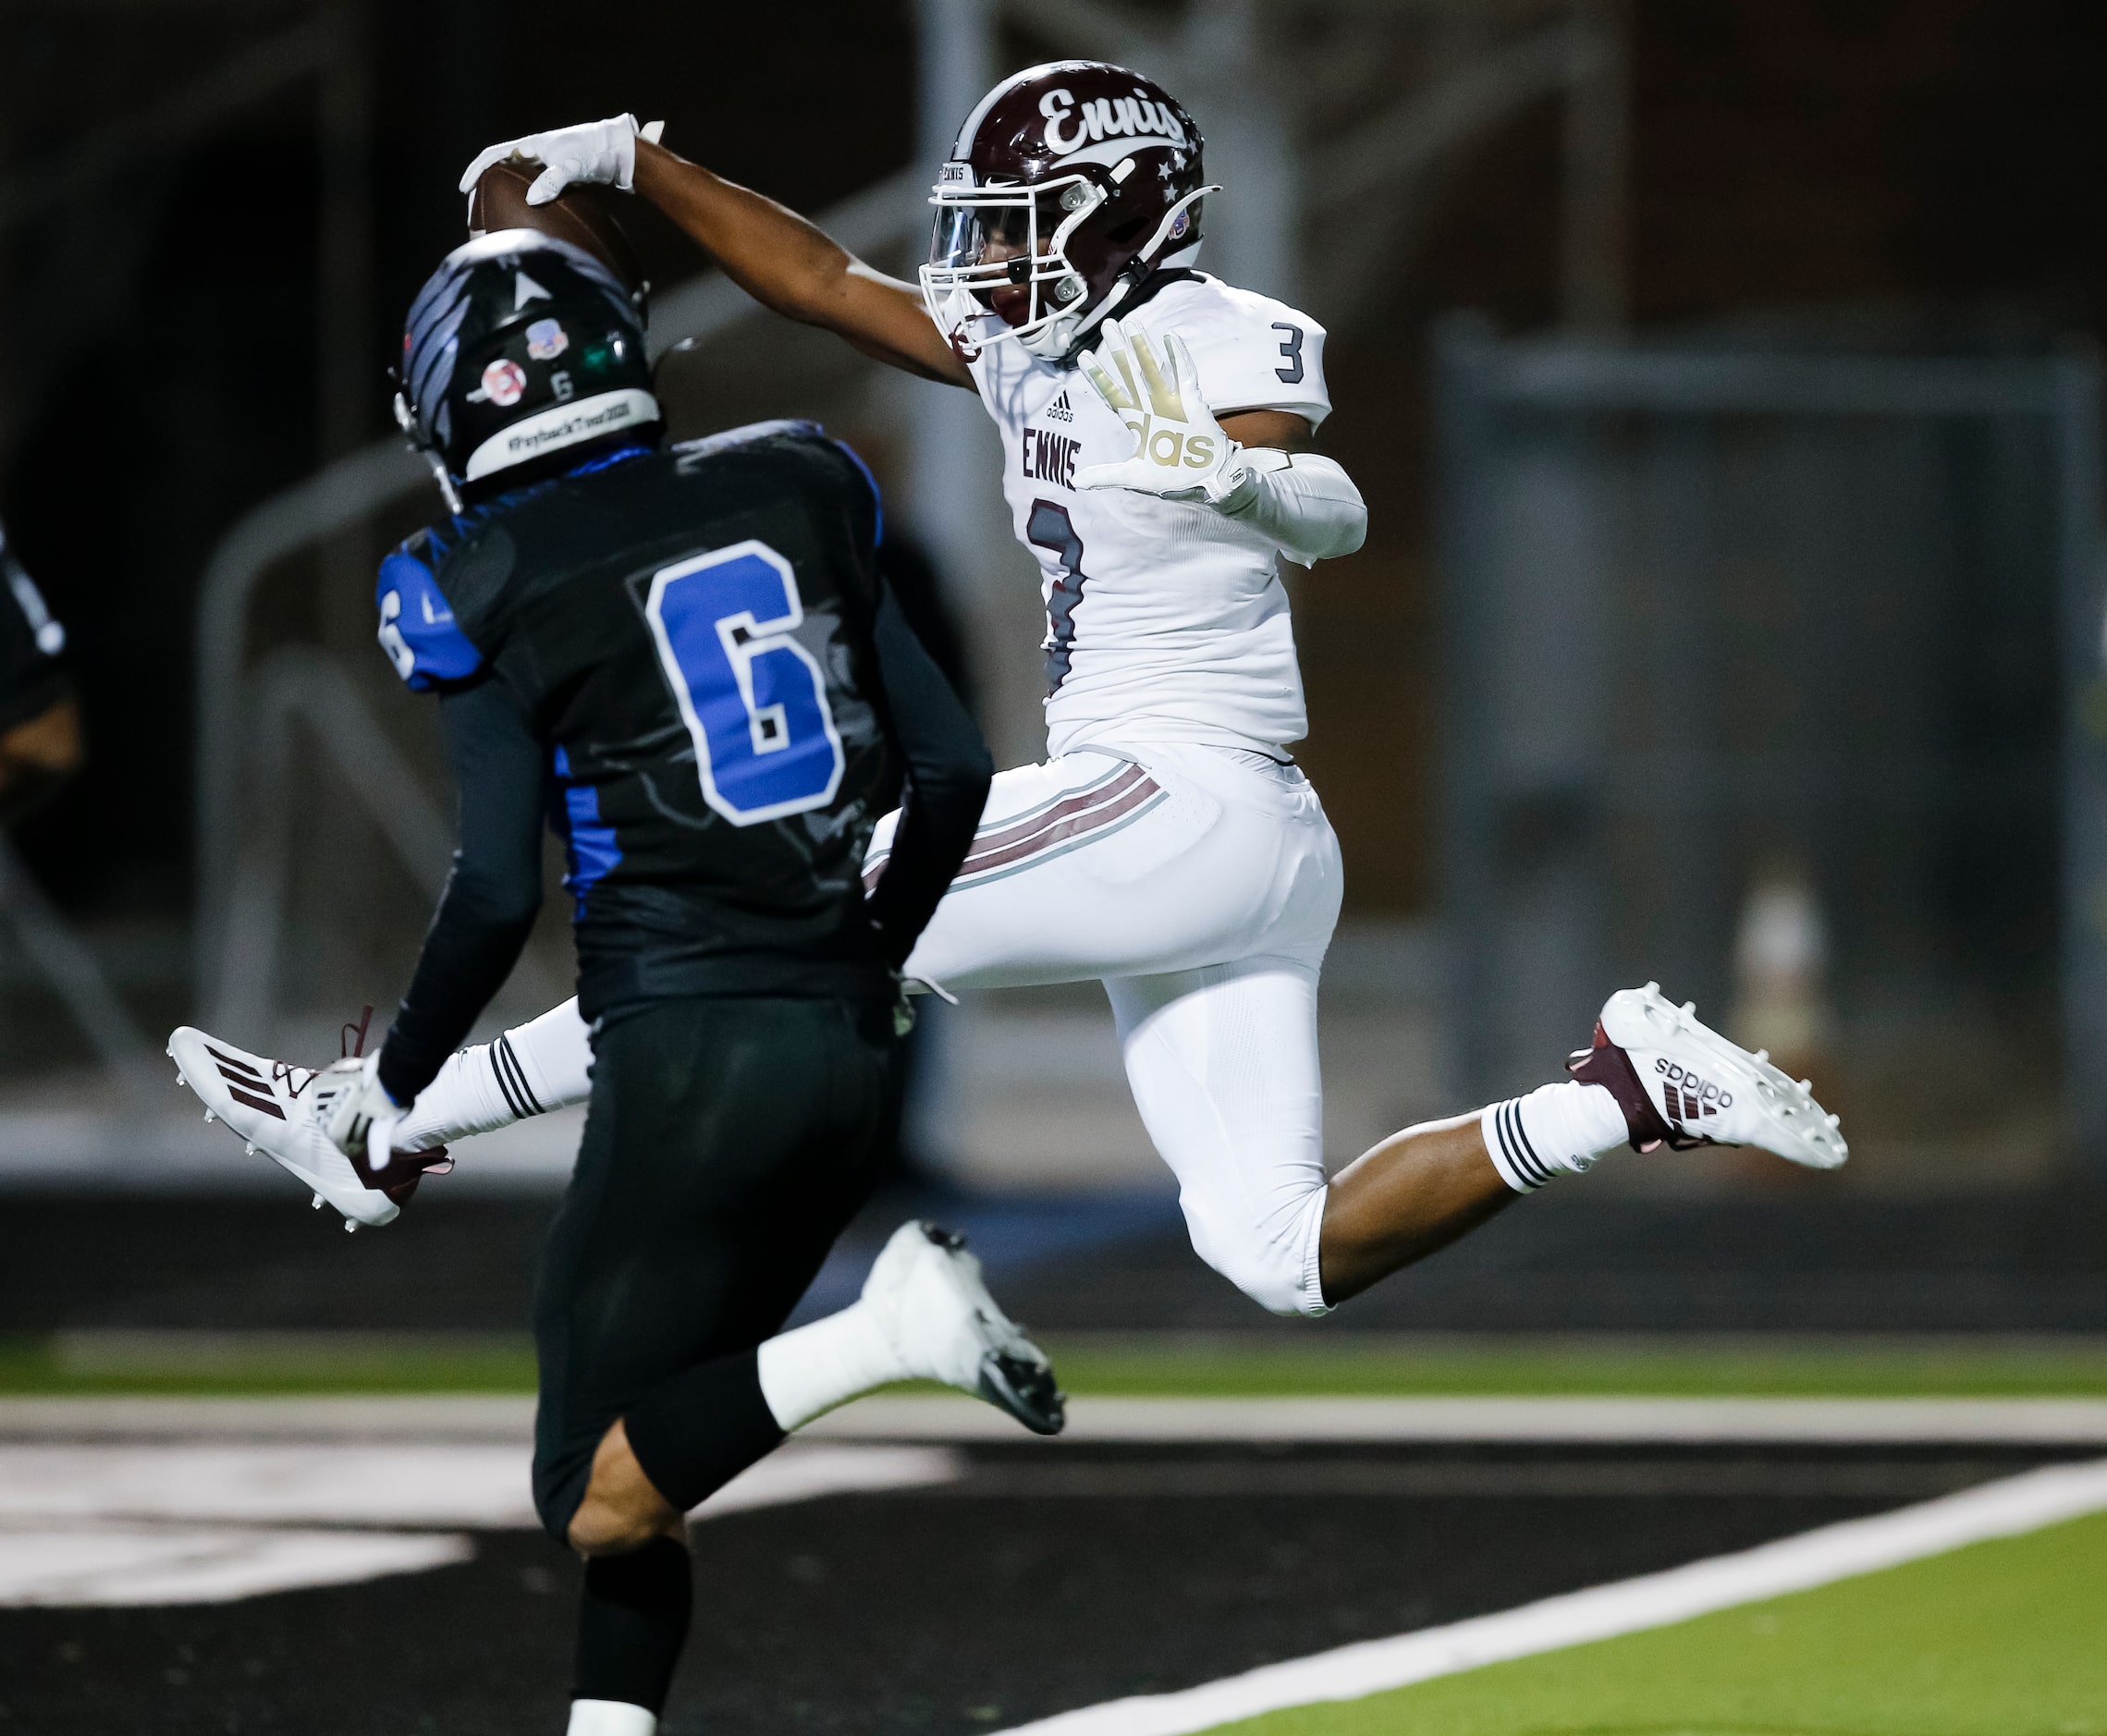
[[[1178,333],[1216,417],[1330,415],[1323,327],[1264,295],[1193,272],[1119,322]],[[986,329],[986,327],[984,327]],[[1047,605],[1047,744],[1203,742],[1279,752],[1302,739],[1302,672],[1273,544],[1203,501],[1077,489],[1134,436],[1079,369],[988,343],[980,400],[1003,436],[1003,493],[1039,558]]]

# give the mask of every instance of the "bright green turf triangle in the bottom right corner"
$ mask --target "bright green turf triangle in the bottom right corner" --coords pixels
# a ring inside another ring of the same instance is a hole
[[[2107,1515],[1237,1736],[2107,1736]]]

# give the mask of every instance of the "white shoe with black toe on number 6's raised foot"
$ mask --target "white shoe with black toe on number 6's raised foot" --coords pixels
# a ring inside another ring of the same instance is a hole
[[[986,1399],[1035,1435],[1060,1435],[1068,1418],[1054,1365],[995,1306],[965,1237],[902,1224],[864,1279],[864,1302],[908,1374]]]

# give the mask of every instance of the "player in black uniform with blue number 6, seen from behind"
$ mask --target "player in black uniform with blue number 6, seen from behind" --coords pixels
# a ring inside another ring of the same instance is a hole
[[[683,1515],[786,1431],[906,1376],[1060,1426],[1045,1357],[927,1224],[780,1331],[893,1138],[900,965],[990,763],[881,581],[862,461],[788,421],[659,449],[636,297],[579,249],[449,255],[398,413],[457,510],[381,565],[381,645],[438,695],[461,843],[386,1045],[314,1089],[375,1197],[430,1161],[390,1131],[518,959],[550,815],[594,1064],[537,1279],[533,1487],[588,1557],[571,1732],[649,1736]]]

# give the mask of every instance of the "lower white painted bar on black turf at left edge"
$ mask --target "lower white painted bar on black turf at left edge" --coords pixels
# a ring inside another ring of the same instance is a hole
[[[424,1574],[464,1536],[204,1527],[0,1530],[0,1607],[232,1603],[272,1591]]]

